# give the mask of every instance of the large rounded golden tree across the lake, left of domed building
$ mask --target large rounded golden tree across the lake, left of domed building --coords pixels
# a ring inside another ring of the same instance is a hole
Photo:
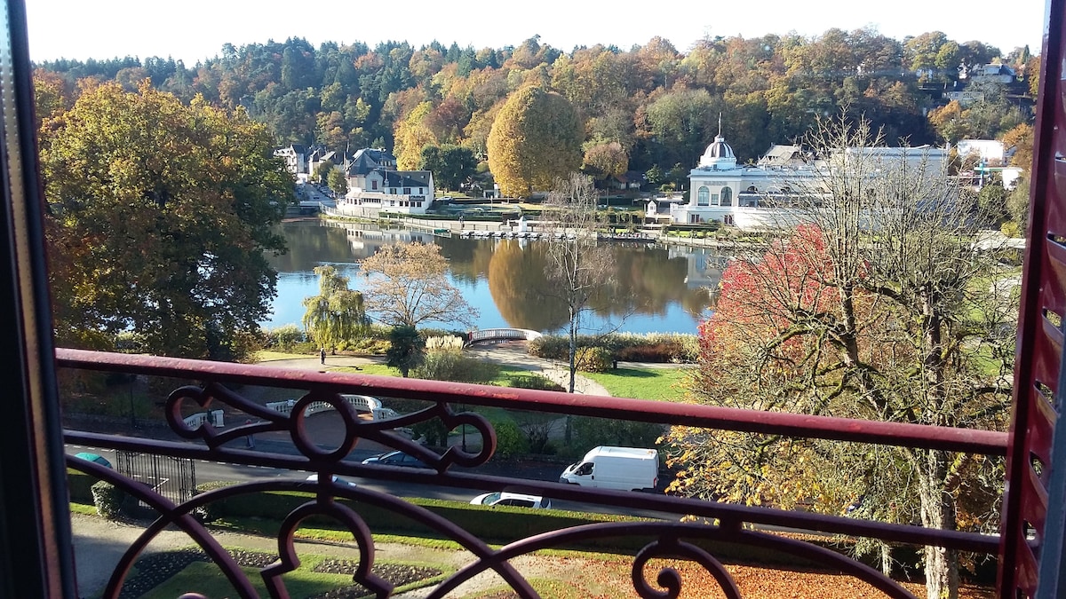
[[[581,166],[584,128],[570,102],[530,85],[507,97],[488,134],[488,167],[506,196],[551,189]]]

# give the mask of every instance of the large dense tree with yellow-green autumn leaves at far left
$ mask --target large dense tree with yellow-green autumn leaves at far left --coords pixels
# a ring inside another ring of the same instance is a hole
[[[266,129],[143,82],[54,102],[41,130],[56,338],[233,359],[270,311],[294,196]]]

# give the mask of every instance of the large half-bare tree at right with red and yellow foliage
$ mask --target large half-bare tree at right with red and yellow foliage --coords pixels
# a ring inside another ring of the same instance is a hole
[[[1017,304],[995,253],[973,248],[975,200],[919,150],[878,158],[866,122],[823,120],[807,142],[828,165],[792,182],[805,224],[723,274],[693,399],[1004,428]],[[984,456],[687,427],[668,440],[688,495],[947,530],[998,521],[999,465]],[[924,557],[928,596],[957,597],[957,555]]]

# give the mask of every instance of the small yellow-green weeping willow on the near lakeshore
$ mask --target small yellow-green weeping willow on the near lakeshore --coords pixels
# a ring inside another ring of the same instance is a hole
[[[362,293],[348,288],[348,277],[333,266],[316,266],[319,294],[304,300],[304,328],[314,343],[330,353],[344,341],[362,335],[370,319],[362,305]]]

